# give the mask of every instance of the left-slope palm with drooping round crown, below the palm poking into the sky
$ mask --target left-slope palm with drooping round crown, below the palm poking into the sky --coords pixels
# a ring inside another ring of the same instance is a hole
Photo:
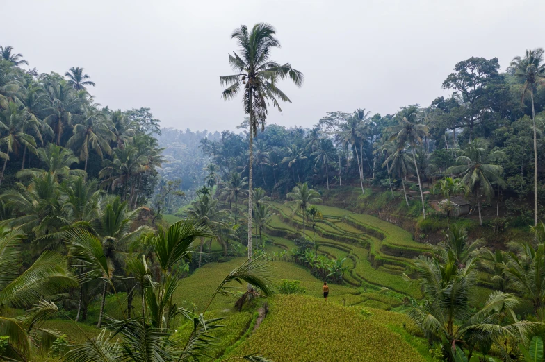
[[[85,107],[82,123],[77,123],[72,129],[74,135],[68,139],[66,146],[79,148],[79,160],[85,161],[83,171],[87,172],[89,148],[92,148],[100,158],[104,158],[103,151],[111,155],[110,141],[115,139],[108,127],[106,116],[97,110],[96,105]]]

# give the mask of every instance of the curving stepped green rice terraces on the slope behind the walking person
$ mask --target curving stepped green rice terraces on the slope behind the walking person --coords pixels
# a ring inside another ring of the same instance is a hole
[[[294,213],[289,202],[272,205],[276,214],[267,224],[266,235],[276,245],[291,250],[291,239],[302,236],[301,214]],[[316,220],[314,229],[307,225],[307,238],[318,242],[321,254],[334,259],[347,257],[345,284],[385,286],[415,298],[421,296],[418,286],[405,282],[402,273],[414,273],[412,259],[428,251],[428,245],[414,241],[409,232],[374,216],[322,205],[318,209],[323,218]]]

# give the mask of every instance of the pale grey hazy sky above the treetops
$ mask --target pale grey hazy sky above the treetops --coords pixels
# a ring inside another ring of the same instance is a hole
[[[0,45],[30,67],[64,74],[84,67],[97,102],[151,107],[162,125],[232,130],[241,100],[220,98],[231,74],[231,31],[265,21],[282,48],[273,59],[304,73],[293,103],[268,123],[311,126],[327,111],[393,113],[429,105],[460,60],[498,57],[502,69],[525,49],[545,47],[545,1],[8,1]],[[531,22],[530,22],[531,21]]]

